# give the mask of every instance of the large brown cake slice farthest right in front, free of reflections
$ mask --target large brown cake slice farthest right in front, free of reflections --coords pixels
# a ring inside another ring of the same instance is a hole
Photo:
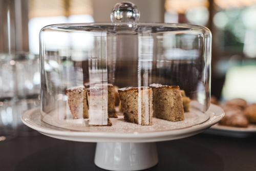
[[[151,84],[154,116],[169,121],[184,120],[183,102],[179,86]]]

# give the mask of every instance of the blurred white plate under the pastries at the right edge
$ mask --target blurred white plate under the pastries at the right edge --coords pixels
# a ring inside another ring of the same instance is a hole
[[[220,125],[217,123],[211,126],[209,130],[206,130],[205,133],[228,137],[245,138],[256,135],[256,125],[250,124],[248,127],[232,127]]]

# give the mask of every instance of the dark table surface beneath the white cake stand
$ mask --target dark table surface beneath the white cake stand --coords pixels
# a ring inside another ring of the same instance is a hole
[[[40,134],[18,136],[0,142],[0,170],[103,170],[94,164],[95,145]],[[159,163],[147,170],[256,170],[256,137],[199,134],[158,142],[157,148]]]

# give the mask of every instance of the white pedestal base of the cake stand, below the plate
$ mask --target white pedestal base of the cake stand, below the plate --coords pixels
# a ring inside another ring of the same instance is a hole
[[[98,142],[95,164],[107,170],[142,170],[158,163],[156,143]]]

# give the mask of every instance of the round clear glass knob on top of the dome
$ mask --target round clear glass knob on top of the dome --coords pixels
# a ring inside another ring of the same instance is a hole
[[[140,18],[140,12],[137,6],[131,2],[117,3],[112,9],[110,15],[113,23],[133,23],[138,22]]]

